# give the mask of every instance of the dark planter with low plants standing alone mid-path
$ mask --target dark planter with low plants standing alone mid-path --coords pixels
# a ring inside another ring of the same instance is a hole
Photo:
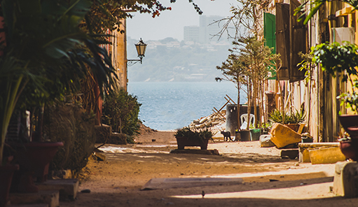
[[[179,150],[184,150],[185,146],[200,146],[201,150],[207,150],[207,144],[209,139],[212,140],[213,134],[209,129],[183,127],[177,129],[174,136],[177,138]]]

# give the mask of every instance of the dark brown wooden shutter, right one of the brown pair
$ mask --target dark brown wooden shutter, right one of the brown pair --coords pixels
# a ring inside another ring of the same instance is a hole
[[[299,71],[299,64],[302,59],[298,55],[298,52],[306,52],[306,26],[303,21],[297,22],[298,17],[301,13],[294,15],[294,10],[301,3],[297,0],[289,1],[289,16],[290,16],[290,67],[289,67],[289,82],[296,82],[298,80],[305,79],[305,71]]]

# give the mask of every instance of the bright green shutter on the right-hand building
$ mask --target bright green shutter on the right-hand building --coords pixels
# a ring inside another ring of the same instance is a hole
[[[266,40],[266,46],[273,48],[273,54],[276,54],[276,17],[271,13],[263,13],[263,37]],[[269,80],[276,80],[276,71],[271,71],[272,77]]]

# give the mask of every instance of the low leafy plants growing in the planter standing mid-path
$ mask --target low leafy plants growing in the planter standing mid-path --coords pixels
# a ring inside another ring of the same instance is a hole
[[[205,139],[212,139],[212,131],[210,131],[209,129],[205,128],[205,129],[198,129],[198,128],[193,128],[191,129],[190,127],[183,127],[181,129],[177,129],[177,131],[175,131],[174,136],[177,137],[185,137],[188,139],[193,139],[193,140],[205,140]]]

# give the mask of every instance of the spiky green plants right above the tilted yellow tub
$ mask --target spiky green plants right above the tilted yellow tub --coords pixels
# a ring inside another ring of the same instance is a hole
[[[271,122],[281,123],[281,124],[299,124],[305,121],[305,110],[290,111],[290,113],[284,112],[275,109],[270,113],[269,120]]]

